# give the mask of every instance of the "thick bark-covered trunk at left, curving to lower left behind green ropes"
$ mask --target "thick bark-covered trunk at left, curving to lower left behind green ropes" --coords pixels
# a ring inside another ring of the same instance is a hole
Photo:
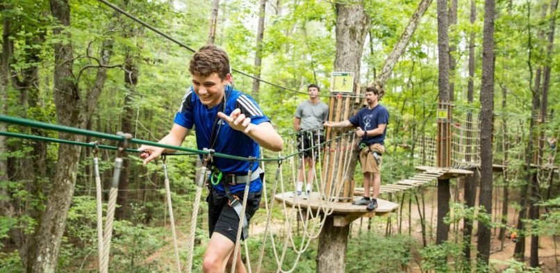
[[[70,26],[70,9],[67,0],[52,0],[53,17],[65,28]],[[54,103],[56,105],[57,123],[66,126],[79,126],[80,96],[74,82],[72,65],[72,44],[69,32],[63,28],[54,28],[53,34],[59,37],[54,44]],[[83,141],[83,136],[60,133],[60,138]],[[60,240],[66,225],[66,215],[74,194],[76,170],[81,147],[60,145],[56,174],[51,184],[47,206],[35,234],[36,247],[33,247],[33,259],[29,261],[28,272],[55,272],[58,260]]]

